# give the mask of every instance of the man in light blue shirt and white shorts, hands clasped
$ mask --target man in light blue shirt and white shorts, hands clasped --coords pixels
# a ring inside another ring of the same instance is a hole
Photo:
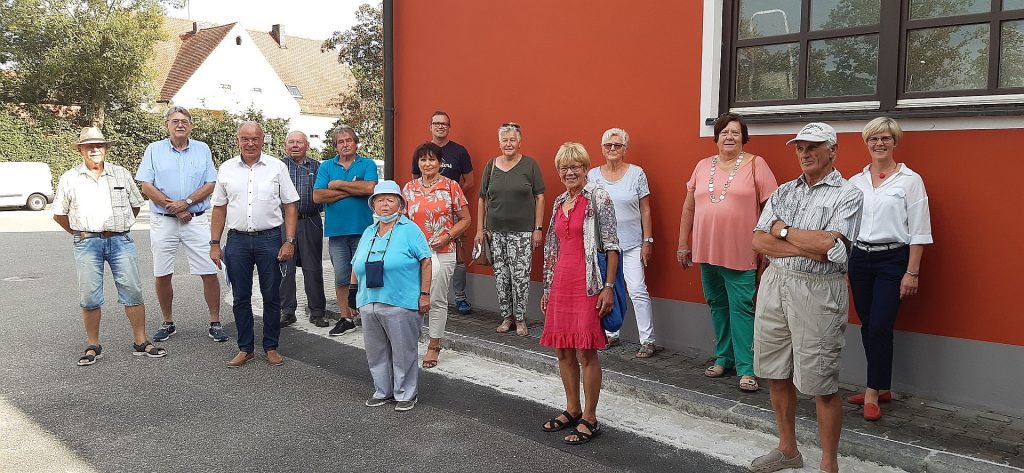
[[[172,106],[164,115],[168,138],[145,148],[135,180],[150,203],[150,240],[157,300],[164,321],[153,339],[158,342],[174,335],[172,303],[174,258],[180,246],[188,258],[188,270],[203,278],[203,293],[210,309],[210,338],[227,340],[220,326],[220,283],[217,267],[210,259],[210,195],[217,180],[210,146],[189,138],[191,114]]]

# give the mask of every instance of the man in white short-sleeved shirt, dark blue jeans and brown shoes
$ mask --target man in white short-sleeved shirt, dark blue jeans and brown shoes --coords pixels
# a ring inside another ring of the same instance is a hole
[[[295,253],[299,193],[285,163],[263,154],[263,129],[258,123],[243,123],[238,140],[241,155],[224,162],[217,173],[210,224],[210,259],[217,267],[224,262],[234,299],[239,353],[227,365],[241,367],[254,356],[253,266],[259,273],[263,296],[263,351],[270,364],[279,365],[285,362],[278,353],[281,262]],[[228,240],[221,251],[220,236],[225,225]]]

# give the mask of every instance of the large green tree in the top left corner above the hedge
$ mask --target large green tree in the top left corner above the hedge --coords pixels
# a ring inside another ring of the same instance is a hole
[[[136,109],[162,14],[159,0],[0,0],[0,101],[81,105],[82,125]]]

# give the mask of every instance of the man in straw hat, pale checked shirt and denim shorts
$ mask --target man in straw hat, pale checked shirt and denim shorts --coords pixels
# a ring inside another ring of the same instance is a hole
[[[128,234],[142,205],[142,195],[128,170],[105,163],[110,141],[98,128],[83,128],[75,147],[82,165],[60,176],[53,199],[53,220],[75,239],[79,304],[88,346],[80,367],[102,356],[99,316],[103,305],[103,262],[111,266],[118,288],[118,302],[131,322],[133,354],[161,357],[167,354],[145,338],[145,305],[138,273],[135,242]]]

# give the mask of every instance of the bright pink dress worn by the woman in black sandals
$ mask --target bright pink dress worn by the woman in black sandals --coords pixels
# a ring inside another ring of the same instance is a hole
[[[551,281],[548,311],[541,345],[555,348],[598,349],[607,340],[598,316],[597,296],[587,297],[584,263],[583,217],[587,199],[577,200],[568,218],[559,208],[555,215],[558,262]]]

